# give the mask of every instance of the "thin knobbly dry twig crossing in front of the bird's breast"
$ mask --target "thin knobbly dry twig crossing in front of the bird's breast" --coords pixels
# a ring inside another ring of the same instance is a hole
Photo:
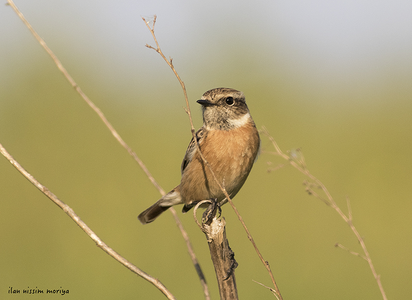
[[[216,183],[218,184],[219,188],[223,191],[224,196],[226,197],[227,201],[230,203],[230,205],[232,206],[233,210],[235,211],[236,215],[238,216],[239,221],[241,222],[244,230],[246,231],[247,237],[248,239],[251,241],[253,247],[255,248],[255,251],[257,252],[257,255],[259,256],[261,262],[263,263],[263,265],[265,266],[265,268],[267,269],[267,271],[269,272],[269,275],[271,277],[272,283],[275,286],[275,290],[276,293],[279,297],[280,300],[282,299],[282,296],[280,295],[279,289],[277,287],[277,284],[275,282],[275,277],[273,276],[272,270],[269,266],[269,262],[267,260],[265,260],[262,256],[262,254],[260,253],[259,249],[257,248],[257,245],[252,237],[252,235],[249,232],[249,229],[246,227],[245,222],[243,221],[243,218],[240,216],[240,213],[238,211],[238,209],[236,208],[236,206],[233,204],[232,199],[229,197],[229,194],[227,193],[226,189],[224,189],[224,187],[222,186],[222,184],[219,182],[219,180],[217,179],[215,173],[213,172],[210,164],[207,162],[206,158],[203,156],[202,152],[200,151],[200,147],[199,147],[199,143],[197,142],[196,139],[196,131],[194,129],[193,126],[193,121],[191,118],[191,113],[190,113],[190,108],[189,108],[189,100],[188,100],[188,95],[186,93],[186,87],[185,84],[183,83],[182,79],[180,79],[179,75],[177,74],[173,64],[172,64],[172,58],[169,58],[169,60],[166,58],[166,56],[163,54],[162,50],[159,47],[159,44],[157,42],[156,36],[154,35],[154,23],[156,22],[156,15],[154,15],[154,20],[153,20],[153,25],[152,27],[150,27],[149,23],[150,21],[146,21],[146,19],[144,17],[142,17],[143,21],[145,22],[147,28],[149,29],[149,31],[152,33],[154,42],[156,43],[156,47],[152,47],[150,45],[146,44],[146,47],[150,48],[150,49],[154,49],[157,53],[159,53],[161,55],[161,57],[165,60],[165,62],[172,68],[172,71],[174,73],[174,75],[176,76],[176,78],[179,80],[180,85],[182,86],[183,89],[183,93],[185,95],[185,100],[186,100],[186,109],[185,111],[188,113],[189,115],[189,121],[190,121],[190,128],[191,128],[191,132],[192,132],[192,136],[193,136],[193,140],[195,141],[195,145],[196,145],[196,150],[199,153],[199,156],[202,158],[203,162],[205,163],[205,165],[207,166],[207,168],[210,170],[210,173],[212,174],[214,180],[216,181]]]

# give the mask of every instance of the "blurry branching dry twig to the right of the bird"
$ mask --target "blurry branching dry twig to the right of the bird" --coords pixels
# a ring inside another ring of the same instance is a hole
[[[366,249],[365,242],[364,242],[363,238],[360,236],[358,230],[355,228],[355,226],[352,223],[352,209],[350,208],[349,198],[346,198],[347,205],[348,205],[348,217],[347,217],[342,212],[341,208],[336,204],[335,200],[333,200],[332,196],[330,195],[329,191],[326,189],[325,185],[318,178],[313,176],[309,172],[309,170],[306,168],[305,158],[303,157],[303,154],[301,153],[301,151],[299,149],[295,150],[293,153],[291,153],[290,156],[288,156],[280,150],[279,146],[275,142],[275,139],[269,134],[269,131],[266,129],[266,127],[263,126],[262,130],[260,130],[260,132],[262,132],[264,135],[266,135],[269,138],[269,140],[272,142],[272,144],[273,144],[273,146],[275,147],[275,150],[276,150],[276,155],[280,156],[281,158],[284,158],[284,159],[288,160],[289,163],[294,168],[296,168],[297,170],[299,170],[300,172],[302,172],[303,174],[308,176],[309,179],[313,181],[313,184],[305,183],[305,185],[307,186],[307,191],[309,192],[309,195],[312,194],[312,195],[316,196],[318,199],[322,200],[327,205],[330,205],[331,207],[333,207],[333,209],[335,209],[335,211],[341,216],[341,218],[349,225],[350,229],[352,230],[352,232],[357,237],[357,239],[360,243],[360,246],[362,247],[363,253],[365,255],[363,256],[363,255],[360,255],[359,253],[352,252],[352,251],[349,251],[349,252],[352,253],[352,254],[355,254],[355,255],[358,254],[360,257],[363,257],[368,262],[369,268],[371,269],[372,274],[373,274],[373,276],[375,277],[375,280],[378,283],[380,293],[382,294],[383,299],[387,300],[385,291],[384,291],[382,283],[380,281],[380,276],[377,274],[377,272],[375,270],[375,267],[372,263],[372,259],[369,255],[368,250]],[[322,196],[320,196],[318,193],[316,193],[312,189],[313,186],[317,186],[320,189],[322,189],[323,192],[326,195],[326,199],[323,198]],[[341,246],[339,246],[339,247],[341,247]],[[341,248],[347,249],[343,246]]]

